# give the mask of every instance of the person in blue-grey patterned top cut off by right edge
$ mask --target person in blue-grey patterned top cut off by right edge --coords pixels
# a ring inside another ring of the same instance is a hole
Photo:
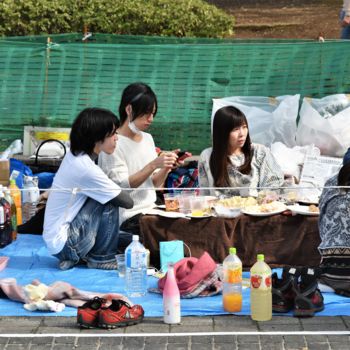
[[[350,297],[350,148],[339,173],[324,185],[320,202],[321,282]]]

